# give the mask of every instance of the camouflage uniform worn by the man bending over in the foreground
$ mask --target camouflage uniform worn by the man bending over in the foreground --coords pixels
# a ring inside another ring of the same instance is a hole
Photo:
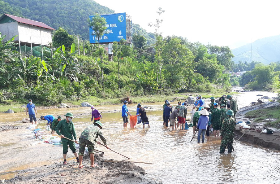
[[[94,124],[89,125],[84,131],[82,132],[79,143],[79,155],[84,156],[84,149],[86,145],[88,146],[88,153],[94,153],[95,142],[97,142],[97,138],[101,138],[102,142],[106,145],[106,139],[103,137],[101,129]]]

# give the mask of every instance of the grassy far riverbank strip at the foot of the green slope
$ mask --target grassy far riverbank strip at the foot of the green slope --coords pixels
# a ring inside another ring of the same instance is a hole
[[[186,100],[188,96],[196,96],[198,94],[202,95],[203,99],[210,98],[214,96],[215,98],[220,98],[223,94],[239,94],[238,92],[231,92],[231,93],[221,93],[216,92],[213,94],[206,94],[206,93],[177,93],[172,95],[149,95],[149,96],[135,96],[129,97],[132,100],[132,103],[156,103],[156,102],[164,102],[166,99],[169,101],[172,100]],[[80,107],[82,102],[88,102],[94,106],[101,106],[101,105],[117,105],[121,104],[122,98],[115,98],[115,99],[104,99],[98,98],[95,96],[89,96],[85,98],[80,98],[78,100],[68,100],[63,101],[62,103],[66,103],[68,107]],[[19,102],[11,102],[9,105],[2,104],[0,106],[0,112],[6,112],[8,109],[13,110],[14,112],[24,112],[26,109],[26,104],[22,104]],[[33,102],[36,105],[37,109],[52,109],[58,108],[58,106],[41,106],[40,103]]]

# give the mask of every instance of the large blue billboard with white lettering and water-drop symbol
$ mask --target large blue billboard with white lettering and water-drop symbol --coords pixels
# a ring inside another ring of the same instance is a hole
[[[115,13],[108,15],[100,15],[106,19],[107,29],[103,36],[99,38],[100,43],[119,42],[121,39],[126,40],[126,13]],[[94,15],[89,16],[89,19]],[[93,29],[89,28],[89,42],[98,43],[98,38],[93,35]]]

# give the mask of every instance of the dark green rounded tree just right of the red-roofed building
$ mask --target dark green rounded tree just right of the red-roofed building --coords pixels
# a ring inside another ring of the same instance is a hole
[[[74,38],[67,33],[66,30],[59,27],[53,35],[53,46],[58,48],[64,45],[66,49],[70,50],[72,43],[74,43]]]

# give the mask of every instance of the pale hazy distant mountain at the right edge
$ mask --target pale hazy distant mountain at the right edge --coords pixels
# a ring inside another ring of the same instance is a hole
[[[251,61],[251,43],[233,49],[232,54],[235,56],[233,61]],[[252,61],[260,61],[263,64],[277,62],[280,60],[280,35],[265,37],[253,42]]]

